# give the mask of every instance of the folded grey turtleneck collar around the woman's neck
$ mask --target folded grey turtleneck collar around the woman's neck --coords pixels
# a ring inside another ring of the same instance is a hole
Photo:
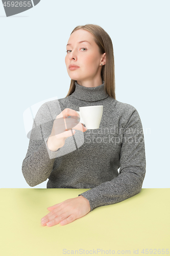
[[[81,86],[77,81],[75,81],[75,91],[71,95],[76,99],[81,99],[85,101],[96,101],[107,98],[109,95],[105,93],[104,87],[105,82],[97,87],[84,87]]]

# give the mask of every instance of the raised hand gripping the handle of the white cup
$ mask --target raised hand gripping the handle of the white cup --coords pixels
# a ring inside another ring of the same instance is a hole
[[[51,151],[57,151],[59,147],[64,146],[65,140],[76,133],[71,130],[82,132],[87,131],[87,128],[80,123],[79,114],[72,109],[64,109],[54,120],[53,129],[50,137],[47,140],[47,146]]]

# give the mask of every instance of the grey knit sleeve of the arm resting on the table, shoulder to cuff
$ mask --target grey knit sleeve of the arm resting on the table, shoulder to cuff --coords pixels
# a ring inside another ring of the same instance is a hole
[[[89,201],[91,210],[124,201],[141,190],[146,168],[145,146],[141,120],[135,108],[123,130],[119,175],[79,194]]]

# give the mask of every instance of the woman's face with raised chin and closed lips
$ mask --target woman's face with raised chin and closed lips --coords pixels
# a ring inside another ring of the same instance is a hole
[[[101,79],[101,63],[105,65],[105,53],[100,53],[89,31],[79,29],[73,32],[68,39],[66,50],[65,64],[71,79],[77,80],[81,85],[84,81],[92,81],[99,77]],[[69,69],[71,64],[79,68]]]

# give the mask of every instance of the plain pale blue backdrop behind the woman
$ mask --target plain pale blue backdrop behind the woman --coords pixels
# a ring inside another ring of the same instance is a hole
[[[115,58],[116,99],[141,118],[147,173],[143,188],[169,187],[169,1],[41,2],[1,24],[1,184],[31,188],[21,172],[29,139],[23,112],[57,96],[70,78],[66,44],[78,25],[96,24],[110,35]],[[46,188],[48,179],[34,188]]]

